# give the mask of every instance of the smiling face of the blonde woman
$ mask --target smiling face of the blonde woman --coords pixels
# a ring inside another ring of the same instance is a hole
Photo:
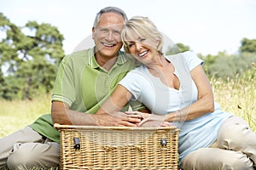
[[[128,39],[128,50],[136,59],[147,65],[158,58],[157,44],[158,41],[152,41],[147,37],[140,37],[133,32]]]

